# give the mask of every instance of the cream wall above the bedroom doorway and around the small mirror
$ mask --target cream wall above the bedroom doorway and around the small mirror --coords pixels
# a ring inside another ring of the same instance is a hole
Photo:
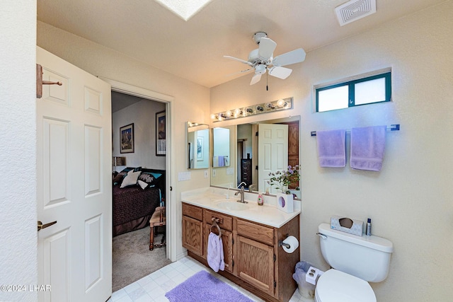
[[[182,255],[180,192],[208,187],[210,179],[204,178],[203,170],[190,170],[191,180],[178,182],[178,172],[187,171],[186,150],[181,146],[186,144],[186,122],[210,123],[210,90],[40,21],[38,46],[96,76],[174,97],[167,112],[173,134],[167,142],[171,153],[171,181],[167,186],[173,187],[167,202],[176,205],[177,211],[171,213],[176,223],[171,227],[176,227],[177,236],[170,240],[177,240],[175,257]]]

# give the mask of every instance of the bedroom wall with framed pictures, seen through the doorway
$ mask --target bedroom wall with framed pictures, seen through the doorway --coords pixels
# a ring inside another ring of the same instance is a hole
[[[129,167],[166,169],[165,156],[156,156],[156,112],[165,103],[141,100],[112,115],[112,156],[124,156]],[[134,123],[134,153],[120,153],[120,127]],[[117,169],[118,170],[118,169]]]

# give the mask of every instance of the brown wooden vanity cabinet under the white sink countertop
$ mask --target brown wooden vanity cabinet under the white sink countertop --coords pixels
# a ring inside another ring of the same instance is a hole
[[[274,228],[183,203],[183,246],[190,257],[208,267],[207,238],[213,217],[219,219],[224,244],[225,270],[219,274],[265,301],[289,301],[297,289],[292,274],[300,253],[298,248],[288,254],[278,241],[288,234],[299,238],[299,215]]]

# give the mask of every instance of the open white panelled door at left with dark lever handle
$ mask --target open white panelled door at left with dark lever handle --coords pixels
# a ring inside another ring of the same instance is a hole
[[[112,294],[110,84],[37,48],[39,301],[107,301]]]

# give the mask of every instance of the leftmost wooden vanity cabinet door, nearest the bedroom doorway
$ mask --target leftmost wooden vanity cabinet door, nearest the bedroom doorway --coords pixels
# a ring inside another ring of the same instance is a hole
[[[203,222],[183,216],[183,247],[203,255]]]

